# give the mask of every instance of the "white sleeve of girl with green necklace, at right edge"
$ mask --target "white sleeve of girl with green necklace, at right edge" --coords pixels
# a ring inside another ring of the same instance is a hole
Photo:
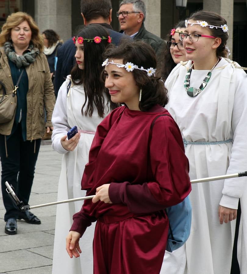
[[[235,69],[235,96],[232,111],[231,127],[233,131],[233,146],[227,174],[247,170],[247,74]],[[220,205],[238,209],[238,199],[242,197],[247,185],[246,177],[231,178],[224,181]]]

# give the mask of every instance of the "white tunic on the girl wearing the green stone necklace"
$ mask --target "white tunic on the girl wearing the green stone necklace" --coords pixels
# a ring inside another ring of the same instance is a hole
[[[191,180],[247,170],[247,75],[227,60],[220,60],[206,88],[196,97],[189,97],[184,89],[186,67],[191,67],[191,61],[186,66],[178,64],[165,83],[169,95],[166,108],[177,122],[183,139],[189,142],[234,140],[215,145],[188,144],[185,153]],[[207,73],[208,70],[192,70],[190,86],[199,88]],[[174,254],[166,252],[160,273],[230,273],[235,221],[221,225],[218,207],[220,204],[237,209],[239,198],[243,224],[241,273],[247,273],[246,184],[246,177],[192,184],[190,237],[181,250]],[[181,267],[183,257],[185,263]],[[174,262],[179,263],[174,265]]]

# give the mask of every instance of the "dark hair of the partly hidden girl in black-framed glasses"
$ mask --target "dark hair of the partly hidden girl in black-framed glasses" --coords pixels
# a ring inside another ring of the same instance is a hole
[[[185,24],[184,24],[184,20],[179,21],[177,23],[177,25],[174,27],[174,29],[176,30],[177,28],[185,28]],[[171,41],[172,35],[170,34],[170,32],[166,35],[166,41]],[[171,73],[171,71],[175,68],[177,64],[174,63],[171,53],[170,53],[170,48],[167,47],[166,45],[166,49],[164,54],[162,55],[162,60],[161,62],[159,62],[159,67],[158,70],[161,73],[162,79],[165,81],[166,78],[169,76],[169,74]]]

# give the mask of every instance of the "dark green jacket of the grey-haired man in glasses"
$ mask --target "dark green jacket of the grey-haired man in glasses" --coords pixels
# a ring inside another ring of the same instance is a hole
[[[157,60],[159,60],[159,57],[164,53],[166,48],[165,41],[157,35],[147,31],[144,23],[142,23],[140,30],[134,37],[134,40],[142,40],[143,42],[149,44],[154,49]]]

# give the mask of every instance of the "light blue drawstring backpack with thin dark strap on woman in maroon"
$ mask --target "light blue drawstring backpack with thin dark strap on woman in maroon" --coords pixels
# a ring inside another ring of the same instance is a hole
[[[151,125],[151,131],[154,126],[154,122],[160,116],[170,116],[168,114],[162,114],[157,116]],[[169,219],[169,232],[166,243],[166,251],[172,252],[180,248],[190,235],[192,207],[190,198],[187,196],[183,202],[170,206],[165,209],[166,215]]]

